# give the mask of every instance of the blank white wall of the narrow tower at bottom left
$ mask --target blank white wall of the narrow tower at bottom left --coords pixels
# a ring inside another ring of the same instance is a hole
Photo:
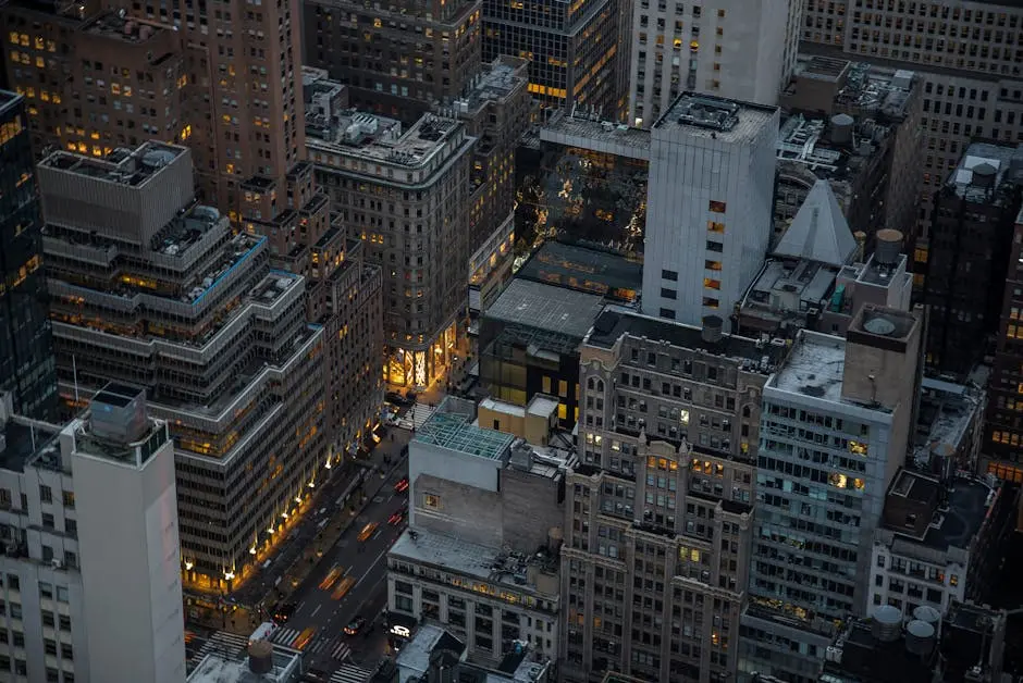
[[[173,442],[141,468],[82,451],[73,462],[91,680],[180,683],[185,645]]]

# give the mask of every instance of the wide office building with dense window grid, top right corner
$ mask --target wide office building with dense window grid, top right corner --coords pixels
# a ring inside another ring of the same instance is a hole
[[[926,263],[934,204],[974,138],[1023,135],[1023,8],[1011,0],[888,3],[806,0],[801,49],[911,69],[923,80],[916,263]],[[913,272],[920,266],[914,265]]]

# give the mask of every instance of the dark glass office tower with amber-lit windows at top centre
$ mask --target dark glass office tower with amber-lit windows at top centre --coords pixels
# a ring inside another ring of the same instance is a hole
[[[529,92],[543,109],[619,117],[620,0],[483,0],[483,61],[529,60]]]

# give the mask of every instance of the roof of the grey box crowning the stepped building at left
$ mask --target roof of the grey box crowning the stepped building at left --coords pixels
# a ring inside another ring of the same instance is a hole
[[[39,165],[119,185],[143,187],[158,176],[161,169],[187,151],[177,145],[148,141],[134,150],[118,148],[102,159],[57,151]]]

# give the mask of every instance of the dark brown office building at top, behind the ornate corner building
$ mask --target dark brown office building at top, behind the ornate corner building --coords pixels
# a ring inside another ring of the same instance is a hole
[[[307,0],[305,63],[347,86],[355,108],[411,125],[451,104],[479,71],[480,7],[404,0],[370,10],[352,0]]]

